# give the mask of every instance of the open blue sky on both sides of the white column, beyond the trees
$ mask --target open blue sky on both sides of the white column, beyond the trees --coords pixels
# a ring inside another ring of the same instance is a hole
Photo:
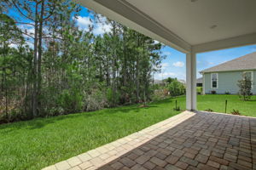
[[[166,46],[162,49],[163,54],[167,57],[162,61],[162,71],[156,74],[156,79],[166,77],[177,77],[186,79],[186,55],[178,52],[176,49]],[[229,48],[218,51],[197,54],[196,69],[197,77],[201,77],[199,71],[219,65],[231,59],[236,59],[246,54],[256,52],[256,45],[244,46],[240,48]],[[181,64],[183,63],[183,64]]]

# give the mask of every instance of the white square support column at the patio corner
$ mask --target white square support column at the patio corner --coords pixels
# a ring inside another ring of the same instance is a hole
[[[186,108],[196,111],[196,54],[186,56]]]

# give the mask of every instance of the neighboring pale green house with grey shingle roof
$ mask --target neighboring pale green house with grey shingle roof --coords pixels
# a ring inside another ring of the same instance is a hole
[[[200,73],[203,75],[204,94],[211,94],[212,91],[216,94],[237,94],[239,91],[237,83],[244,77],[252,80],[252,93],[256,94],[256,52],[213,66]]]

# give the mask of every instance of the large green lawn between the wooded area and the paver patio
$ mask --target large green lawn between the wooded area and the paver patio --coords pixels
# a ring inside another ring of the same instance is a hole
[[[185,108],[185,98],[177,98]],[[0,169],[40,169],[175,116],[174,99],[0,125]]]

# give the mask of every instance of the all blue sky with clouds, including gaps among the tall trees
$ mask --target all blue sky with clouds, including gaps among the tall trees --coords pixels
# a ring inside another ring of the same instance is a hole
[[[12,16],[18,17],[17,12],[11,10]],[[92,19],[92,20],[90,20]],[[73,19],[75,20],[75,19]],[[106,20],[102,17],[102,20]],[[26,19],[21,19],[23,22],[30,22]],[[82,7],[79,13],[79,18],[76,20],[77,26],[81,30],[87,30],[89,25],[94,26],[94,34],[101,35],[104,32],[110,31],[111,27],[101,23],[96,23],[92,14],[88,13],[88,9]],[[33,29],[30,26],[20,26],[21,29],[26,29],[27,32],[33,33]],[[30,44],[31,45],[31,44]],[[201,77],[199,71],[219,65],[230,59],[236,59],[245,54],[256,52],[256,45],[245,46],[240,48],[229,48],[224,50],[212,51],[208,53],[197,54],[197,77]],[[162,48],[162,54],[166,55],[166,59],[162,61],[162,68],[159,73],[154,74],[154,78],[162,80],[166,77],[177,77],[177,79],[186,79],[186,55],[177,51],[174,48],[166,46]]]

